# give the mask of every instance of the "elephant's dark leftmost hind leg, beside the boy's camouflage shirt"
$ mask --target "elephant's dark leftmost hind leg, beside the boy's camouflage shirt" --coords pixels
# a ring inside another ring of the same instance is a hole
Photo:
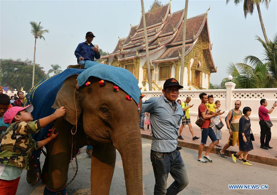
[[[39,175],[41,175],[40,162],[38,163],[37,167],[35,167],[35,159],[30,157],[29,169],[27,170],[27,175],[26,175],[26,180],[28,184],[36,185],[38,183],[37,171],[39,172]]]

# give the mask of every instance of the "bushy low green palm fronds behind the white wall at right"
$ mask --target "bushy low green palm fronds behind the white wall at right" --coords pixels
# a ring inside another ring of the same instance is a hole
[[[277,87],[277,34],[273,41],[268,43],[258,36],[256,38],[263,45],[265,57],[260,60],[248,55],[244,58],[244,63],[230,63],[227,67],[227,73],[233,76],[233,82],[237,88]],[[247,65],[247,62],[250,65]]]

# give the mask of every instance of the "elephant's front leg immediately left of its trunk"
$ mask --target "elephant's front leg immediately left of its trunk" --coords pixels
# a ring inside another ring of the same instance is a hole
[[[112,144],[93,146],[91,165],[91,194],[109,194],[116,162]]]

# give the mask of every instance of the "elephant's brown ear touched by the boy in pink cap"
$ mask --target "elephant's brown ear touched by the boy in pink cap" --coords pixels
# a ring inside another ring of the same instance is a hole
[[[77,82],[78,74],[71,75],[64,82],[60,88],[55,102],[52,105],[52,108],[58,109],[61,106],[64,106],[66,114],[63,116],[72,125],[76,123],[76,110],[77,110],[77,121],[82,113],[82,107],[80,105],[79,95],[75,88],[78,84]],[[75,104],[74,104],[74,93],[75,93]],[[75,109],[76,105],[76,109]]]

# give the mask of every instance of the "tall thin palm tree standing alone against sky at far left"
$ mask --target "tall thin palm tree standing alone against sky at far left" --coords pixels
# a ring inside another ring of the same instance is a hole
[[[36,43],[37,38],[42,39],[45,41],[45,38],[43,37],[44,33],[49,33],[49,30],[43,30],[43,26],[40,26],[40,23],[36,23],[35,21],[31,21],[31,34],[35,37],[35,49],[34,49],[34,65],[33,65],[33,79],[32,79],[32,87],[34,87],[35,84],[35,50],[36,50]]]

